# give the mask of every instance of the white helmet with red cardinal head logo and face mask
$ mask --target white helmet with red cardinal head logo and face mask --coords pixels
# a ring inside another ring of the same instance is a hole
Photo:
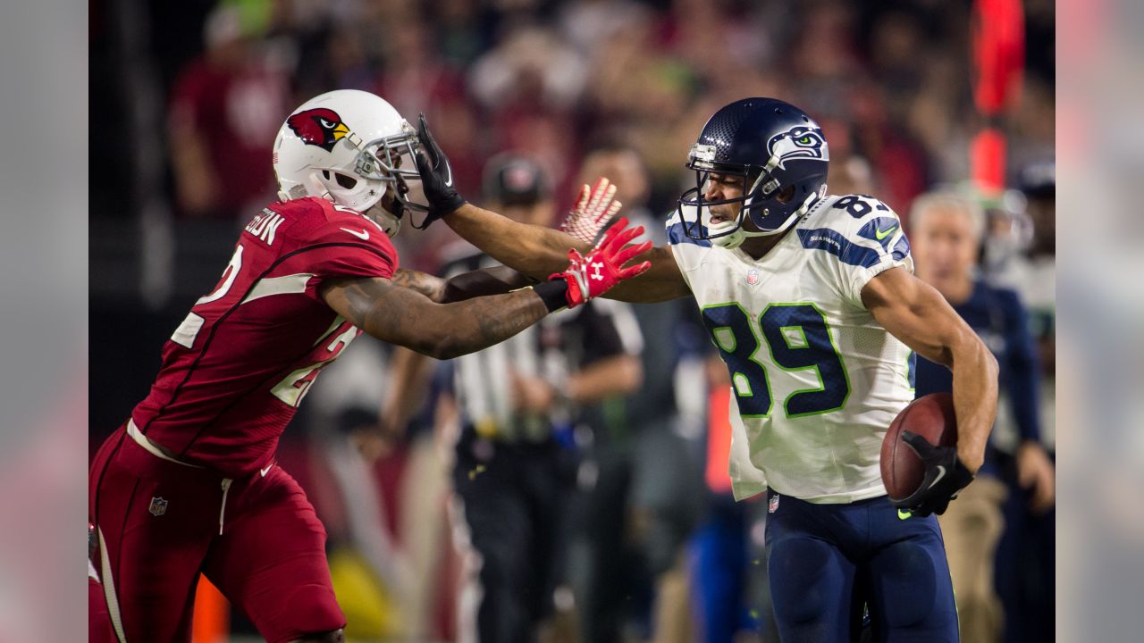
[[[416,129],[379,96],[357,89],[315,96],[275,137],[278,198],[321,197],[365,213],[392,190],[390,208],[378,207],[379,223],[392,237],[408,206],[405,180],[420,178],[418,144]]]

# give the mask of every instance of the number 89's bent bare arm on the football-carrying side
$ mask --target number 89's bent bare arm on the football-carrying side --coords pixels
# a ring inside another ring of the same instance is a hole
[[[998,362],[932,286],[892,268],[874,277],[861,301],[883,328],[917,355],[953,371],[958,458],[976,473],[998,412]]]

